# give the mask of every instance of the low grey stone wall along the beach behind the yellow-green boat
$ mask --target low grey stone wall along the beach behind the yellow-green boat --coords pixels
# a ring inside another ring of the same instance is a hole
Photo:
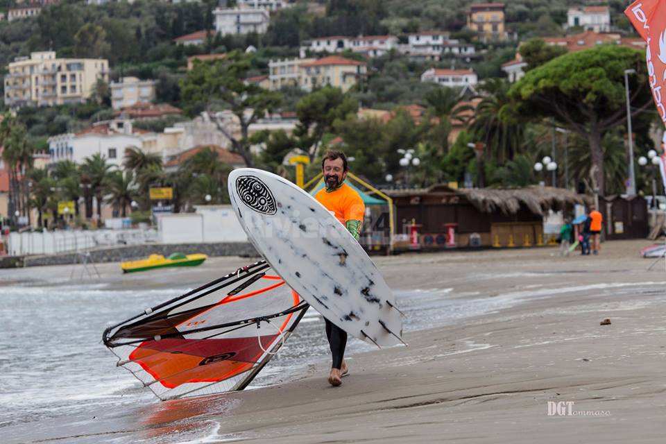
[[[0,256],[0,268],[18,268],[24,266],[80,264],[83,255],[87,262],[123,262],[142,259],[148,255],[164,255],[171,253],[190,255],[203,253],[210,257],[245,256],[259,257],[257,250],[246,242],[222,242],[212,244],[145,244],[117,246],[112,248],[96,248],[84,253],[58,253],[56,255],[35,256]]]

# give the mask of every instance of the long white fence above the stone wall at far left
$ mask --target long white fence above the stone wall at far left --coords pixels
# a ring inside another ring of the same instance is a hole
[[[155,230],[94,230],[12,232],[7,240],[10,255],[53,255],[103,246],[146,244],[157,241]]]

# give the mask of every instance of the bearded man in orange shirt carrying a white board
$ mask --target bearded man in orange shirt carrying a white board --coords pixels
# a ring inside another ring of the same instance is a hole
[[[325,180],[325,187],[314,196],[326,210],[331,212],[354,239],[359,240],[361,223],[366,213],[363,199],[355,189],[345,184],[349,171],[347,156],[341,151],[328,151],[321,161],[321,171]],[[332,365],[328,382],[332,386],[342,384],[342,377],[347,375],[348,368],[345,362],[345,348],[347,347],[347,332],[326,321],[326,337],[331,349]]]

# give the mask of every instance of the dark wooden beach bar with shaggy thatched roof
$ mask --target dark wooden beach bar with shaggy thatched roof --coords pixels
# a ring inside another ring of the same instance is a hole
[[[393,249],[397,251],[540,246],[547,242],[543,217],[549,210],[573,212],[574,205],[585,203],[585,196],[574,191],[539,185],[518,189],[433,185],[384,192],[395,205]]]

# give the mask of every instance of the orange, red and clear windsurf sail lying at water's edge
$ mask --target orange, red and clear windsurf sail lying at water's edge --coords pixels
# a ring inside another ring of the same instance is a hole
[[[104,344],[161,400],[245,388],[309,305],[266,262],[108,327]]]

